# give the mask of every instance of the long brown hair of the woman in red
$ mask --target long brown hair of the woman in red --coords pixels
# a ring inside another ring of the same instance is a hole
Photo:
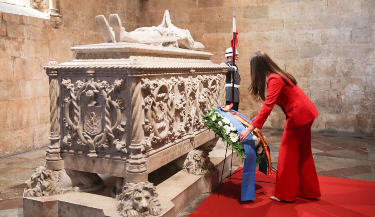
[[[265,52],[255,51],[250,57],[250,73],[251,73],[251,85],[248,88],[255,99],[266,100],[264,96],[266,91],[266,78],[270,73],[276,73],[281,76],[285,84],[290,87],[297,85],[296,79],[285,70],[282,70]],[[290,82],[294,84],[290,84]]]

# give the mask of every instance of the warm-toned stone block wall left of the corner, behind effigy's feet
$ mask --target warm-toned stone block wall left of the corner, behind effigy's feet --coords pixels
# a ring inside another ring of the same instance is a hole
[[[136,0],[60,0],[62,24],[0,12],[0,158],[49,144],[48,77],[52,58],[73,58],[72,46],[101,43],[95,16],[118,13],[126,28],[141,23]]]

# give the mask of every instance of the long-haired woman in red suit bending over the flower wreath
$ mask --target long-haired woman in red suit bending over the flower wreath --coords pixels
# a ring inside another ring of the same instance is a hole
[[[240,133],[246,138],[255,128],[262,129],[273,106],[281,107],[286,115],[282,135],[278,171],[276,174],[275,201],[293,202],[296,196],[315,199],[320,197],[320,187],[311,153],[311,125],[318,111],[306,94],[298,87],[296,79],[282,70],[262,51],[250,58],[252,95],[264,100],[258,115],[248,129]],[[265,96],[267,82],[267,96]]]

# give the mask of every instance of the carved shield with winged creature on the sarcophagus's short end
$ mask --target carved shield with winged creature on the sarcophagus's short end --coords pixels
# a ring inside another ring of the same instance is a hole
[[[83,106],[83,130],[90,136],[102,132],[102,106]]]

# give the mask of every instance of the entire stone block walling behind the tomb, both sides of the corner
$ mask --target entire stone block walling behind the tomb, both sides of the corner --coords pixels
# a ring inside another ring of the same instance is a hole
[[[320,112],[314,130],[375,132],[374,0],[236,0],[242,75],[240,111],[254,117],[249,57],[267,52],[296,76]],[[0,12],[0,158],[49,144],[48,78],[42,67],[73,58],[71,46],[101,43],[94,18],[118,13],[127,31],[172,22],[225,60],[233,0],[60,0],[62,24]],[[277,107],[277,106],[276,106]],[[280,128],[275,108],[265,127]]]

